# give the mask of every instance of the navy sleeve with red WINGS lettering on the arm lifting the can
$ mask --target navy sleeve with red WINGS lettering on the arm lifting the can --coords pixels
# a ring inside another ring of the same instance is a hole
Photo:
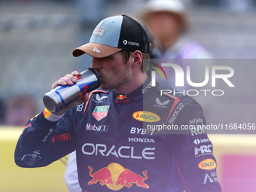
[[[69,114],[56,122],[47,120],[44,112],[26,123],[14,152],[17,166],[47,166],[75,151],[75,134]]]

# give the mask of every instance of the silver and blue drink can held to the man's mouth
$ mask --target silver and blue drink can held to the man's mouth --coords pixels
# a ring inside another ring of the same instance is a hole
[[[62,86],[50,90],[44,94],[44,106],[52,113],[66,108],[72,102],[81,99],[86,93],[89,93],[100,87],[99,75],[93,69],[85,69],[76,77],[77,83],[72,86]]]

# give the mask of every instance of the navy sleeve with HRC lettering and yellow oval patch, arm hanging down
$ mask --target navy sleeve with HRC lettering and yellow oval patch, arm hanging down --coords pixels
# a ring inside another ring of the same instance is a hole
[[[173,165],[184,189],[190,192],[220,192],[212,142],[202,128],[206,120],[201,106],[189,105],[178,116],[174,123],[185,130],[183,134],[175,135]]]

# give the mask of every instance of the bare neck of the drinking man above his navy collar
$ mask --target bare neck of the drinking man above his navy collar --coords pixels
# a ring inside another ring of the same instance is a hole
[[[148,75],[146,72],[140,72],[139,75],[134,75],[130,81],[126,82],[125,84],[120,85],[116,89],[114,89],[117,93],[129,94],[132,93],[134,90],[141,87],[148,79]]]

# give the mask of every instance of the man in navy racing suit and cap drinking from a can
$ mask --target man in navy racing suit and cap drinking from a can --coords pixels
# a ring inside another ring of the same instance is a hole
[[[148,36],[132,18],[102,20],[90,43],[73,51],[93,56],[102,89],[29,120],[17,143],[17,165],[47,166],[76,150],[82,191],[221,191],[204,130],[171,129],[205,123],[200,105],[187,96],[160,96],[164,87],[152,87],[148,62],[142,65],[148,50]],[[74,84],[78,75],[60,78],[53,88]]]

